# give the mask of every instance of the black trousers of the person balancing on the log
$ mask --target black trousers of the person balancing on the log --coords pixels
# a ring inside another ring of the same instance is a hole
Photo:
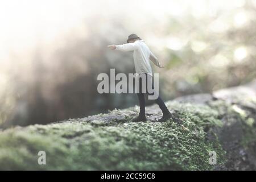
[[[142,73],[145,74],[146,76],[146,88],[147,88],[147,80],[148,77],[150,77],[150,75],[148,75],[147,73]],[[154,84],[152,83],[152,88],[154,88]],[[154,93],[148,93],[148,90],[146,90],[147,94],[149,95],[153,95]],[[139,115],[145,115],[145,98],[144,98],[144,93],[142,93],[142,78],[139,78],[139,93],[137,94],[139,97],[139,106],[140,106],[140,112]],[[156,104],[159,105],[160,109],[162,110],[163,114],[167,114],[169,113],[169,110],[167,109],[166,105],[164,104],[162,98],[160,96],[158,96],[158,98],[156,100],[154,100]]]

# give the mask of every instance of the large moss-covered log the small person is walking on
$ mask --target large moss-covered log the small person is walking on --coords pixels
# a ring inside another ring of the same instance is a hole
[[[167,101],[173,118],[139,107],[0,131],[0,169],[255,170],[256,83]],[[38,152],[46,164],[38,164]],[[209,152],[216,152],[216,164]]]

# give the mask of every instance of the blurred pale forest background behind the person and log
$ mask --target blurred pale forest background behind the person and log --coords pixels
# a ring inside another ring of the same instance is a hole
[[[138,104],[98,94],[98,73],[133,73],[138,34],[166,69],[164,100],[256,77],[256,0],[0,2],[0,127],[49,123]],[[150,102],[148,102],[150,104]]]

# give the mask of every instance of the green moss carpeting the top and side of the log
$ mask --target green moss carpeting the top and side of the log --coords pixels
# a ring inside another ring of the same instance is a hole
[[[209,151],[216,151],[223,163],[225,152],[217,138],[209,142],[204,131],[220,125],[218,112],[177,102],[168,107],[177,110],[182,126],[172,120],[129,122],[138,110],[131,107],[109,113],[122,119],[72,119],[2,131],[0,169],[208,170],[214,168],[208,163]],[[46,151],[46,165],[38,164],[39,151]]]

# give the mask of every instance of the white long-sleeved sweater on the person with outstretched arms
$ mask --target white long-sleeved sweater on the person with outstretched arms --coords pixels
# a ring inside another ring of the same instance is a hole
[[[133,51],[133,59],[136,73],[148,73],[148,75],[152,76],[152,68],[149,60],[151,60],[155,65],[160,67],[158,59],[150,51],[150,48],[147,47],[143,40],[136,40],[134,43],[118,45],[116,46],[115,50]]]

